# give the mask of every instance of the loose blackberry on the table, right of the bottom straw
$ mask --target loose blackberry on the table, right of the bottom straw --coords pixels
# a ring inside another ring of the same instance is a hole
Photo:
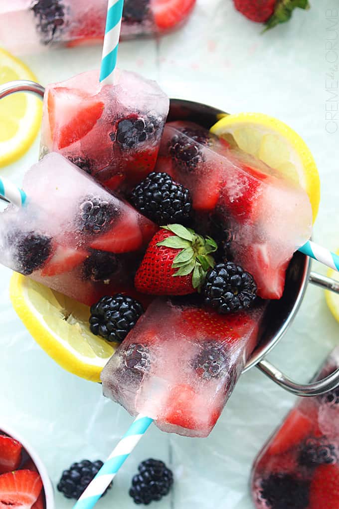
[[[148,505],[167,495],[173,484],[173,473],[159,460],[145,460],[138,466],[139,473],[132,479],[130,496],[136,504]]]

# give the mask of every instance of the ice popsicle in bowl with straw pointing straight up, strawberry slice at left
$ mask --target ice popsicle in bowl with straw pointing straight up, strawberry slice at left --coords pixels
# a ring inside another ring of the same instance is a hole
[[[102,86],[89,71],[50,84],[41,155],[59,152],[111,190],[131,188],[156,164],[169,99],[155,81],[117,71]]]

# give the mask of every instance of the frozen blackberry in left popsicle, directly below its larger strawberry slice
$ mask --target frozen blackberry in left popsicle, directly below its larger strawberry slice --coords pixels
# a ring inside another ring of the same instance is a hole
[[[119,261],[115,254],[93,250],[83,263],[82,274],[84,279],[91,281],[108,281],[118,267]]]

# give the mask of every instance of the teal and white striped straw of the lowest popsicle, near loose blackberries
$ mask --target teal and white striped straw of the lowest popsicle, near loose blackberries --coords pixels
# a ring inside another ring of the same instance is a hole
[[[115,477],[117,471],[132,453],[153,419],[138,415],[127,433],[121,438],[97,475],[87,486],[73,509],[91,509]]]

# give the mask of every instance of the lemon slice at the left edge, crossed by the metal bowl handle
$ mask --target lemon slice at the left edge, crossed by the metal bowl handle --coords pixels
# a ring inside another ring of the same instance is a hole
[[[15,79],[37,81],[20,60],[0,48],[0,84]],[[12,94],[0,100],[0,166],[21,157],[38,134],[42,102],[27,93]]]

